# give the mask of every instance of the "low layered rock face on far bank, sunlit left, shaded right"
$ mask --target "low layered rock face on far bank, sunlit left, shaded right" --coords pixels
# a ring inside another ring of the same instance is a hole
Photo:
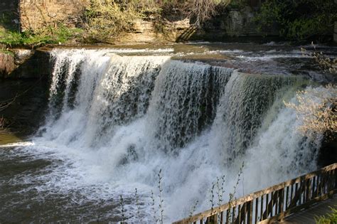
[[[249,6],[241,10],[230,10],[215,16],[202,28],[194,28],[185,18],[170,22],[136,21],[134,31],[119,39],[119,43],[154,43],[158,41],[228,41],[232,38],[261,37],[254,20],[255,12]],[[277,36],[271,31],[269,36]]]

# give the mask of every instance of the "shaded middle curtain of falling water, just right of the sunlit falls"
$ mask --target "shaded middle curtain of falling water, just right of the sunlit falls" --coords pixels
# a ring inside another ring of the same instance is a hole
[[[171,60],[156,79],[149,122],[158,148],[181,148],[208,127],[232,70]]]

